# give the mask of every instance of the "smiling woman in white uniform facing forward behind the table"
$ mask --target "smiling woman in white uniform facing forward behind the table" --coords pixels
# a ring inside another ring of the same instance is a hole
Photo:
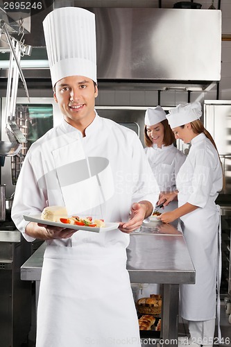
[[[146,156],[160,188],[160,192],[176,190],[176,176],[186,155],[173,144],[175,137],[166,119],[166,113],[161,106],[148,108],[144,118],[144,142]],[[159,212],[174,210],[177,201],[172,201]]]

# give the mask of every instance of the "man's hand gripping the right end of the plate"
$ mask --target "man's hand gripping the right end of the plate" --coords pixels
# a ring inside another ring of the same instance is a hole
[[[131,208],[130,220],[124,223],[119,223],[119,230],[128,234],[139,228],[146,216],[146,206],[142,203],[133,203]]]

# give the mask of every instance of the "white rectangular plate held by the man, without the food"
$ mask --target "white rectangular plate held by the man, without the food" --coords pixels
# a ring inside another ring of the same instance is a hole
[[[85,230],[85,231],[93,231],[93,232],[102,232],[117,229],[119,223],[105,223],[105,228],[96,228],[94,226],[75,226],[74,224],[65,224],[58,223],[55,221],[45,221],[41,219],[41,214],[31,214],[29,216],[24,216],[25,221],[34,221],[35,223],[45,224],[46,226],[60,226],[63,228],[74,229],[74,230]]]

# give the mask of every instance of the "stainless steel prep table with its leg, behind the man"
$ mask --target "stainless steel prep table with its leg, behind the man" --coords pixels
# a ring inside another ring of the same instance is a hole
[[[179,285],[195,283],[195,270],[185,239],[171,225],[148,223],[130,235],[127,269],[132,283],[161,283],[162,345],[178,345]],[[22,280],[36,282],[36,301],[40,286],[46,242],[22,265]]]

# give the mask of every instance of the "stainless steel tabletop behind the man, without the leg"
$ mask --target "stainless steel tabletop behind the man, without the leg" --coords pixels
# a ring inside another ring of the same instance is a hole
[[[159,229],[159,226],[161,229]],[[127,269],[133,283],[195,283],[185,239],[171,225],[148,223],[130,234]],[[46,242],[21,267],[22,280],[40,280]]]

